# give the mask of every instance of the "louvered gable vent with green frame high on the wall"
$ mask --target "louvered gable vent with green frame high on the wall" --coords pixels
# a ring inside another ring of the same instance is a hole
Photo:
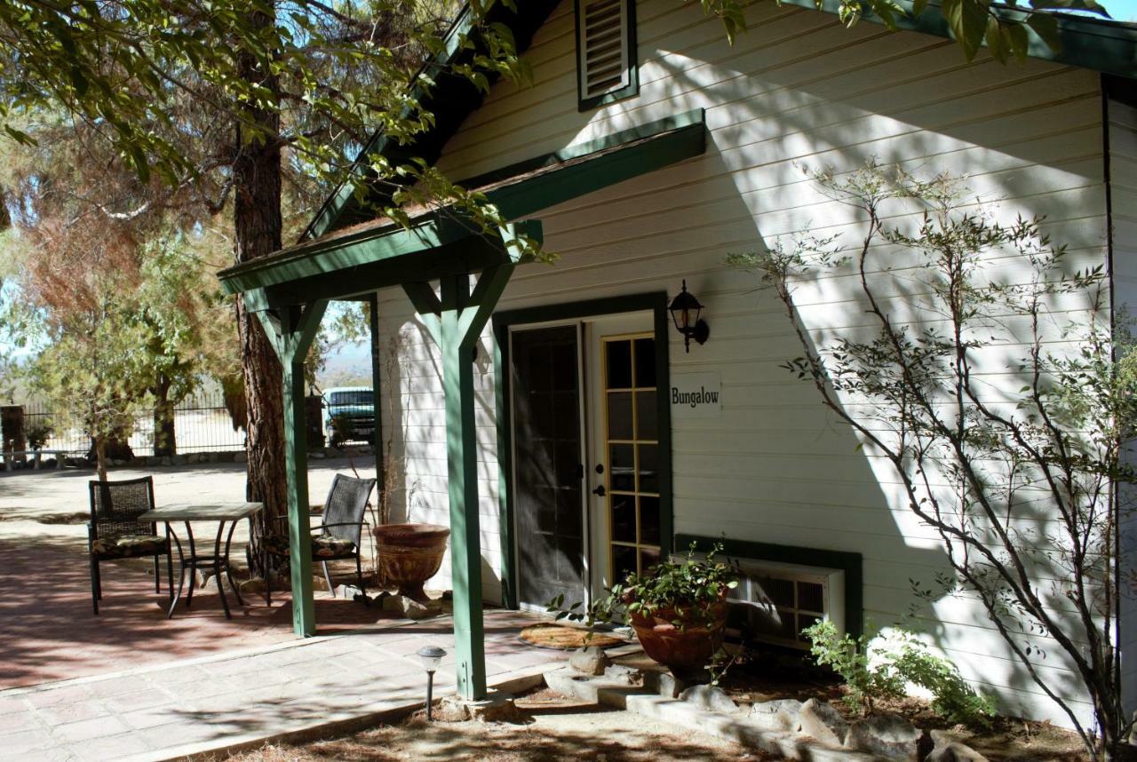
[[[628,3],[633,0],[581,0],[580,85],[584,98],[629,84]]]

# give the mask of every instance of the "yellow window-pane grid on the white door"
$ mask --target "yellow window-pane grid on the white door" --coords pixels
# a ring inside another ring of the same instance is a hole
[[[652,386],[639,386],[640,381],[641,381],[639,379],[640,368],[639,368],[639,363],[637,362],[637,357],[636,357],[637,345],[639,343],[639,341],[637,341],[637,340],[647,339],[647,340],[652,340],[654,342],[654,338],[655,338],[654,333],[646,332],[646,333],[632,333],[632,334],[614,336],[614,337],[603,337],[601,341],[600,341],[600,343],[601,343],[601,351],[600,351],[601,368],[600,368],[600,373],[601,373],[601,379],[604,381],[604,388],[605,388],[604,389],[604,391],[605,391],[605,394],[604,394],[604,403],[605,403],[605,411],[604,411],[605,432],[604,433],[605,433],[605,454],[606,454],[605,456],[608,458],[608,469],[607,469],[607,473],[606,473],[606,482],[607,482],[606,487],[607,487],[607,491],[608,491],[607,512],[606,513],[607,513],[607,520],[608,520],[607,523],[608,523],[608,538],[609,538],[609,541],[608,541],[608,564],[609,565],[608,565],[608,568],[612,570],[613,581],[617,581],[617,580],[622,579],[623,572],[631,568],[631,564],[617,564],[617,562],[616,562],[617,554],[619,555],[624,555],[629,550],[632,554],[634,554],[634,560],[636,560],[634,570],[636,570],[637,573],[640,573],[640,574],[642,574],[648,566],[657,563],[658,560],[659,560],[659,545],[658,544],[652,544],[652,542],[646,542],[645,541],[645,537],[644,537],[644,535],[645,535],[645,531],[644,531],[644,520],[642,520],[642,514],[644,514],[644,510],[645,510],[644,508],[644,498],[647,498],[650,503],[654,503],[655,507],[652,508],[652,510],[654,510],[656,513],[658,513],[658,498],[659,498],[659,494],[658,494],[658,491],[654,491],[654,490],[649,491],[649,490],[644,489],[642,483],[641,483],[644,474],[642,474],[642,472],[640,470],[640,466],[641,466],[641,453],[640,453],[640,448],[642,446],[657,447],[658,444],[659,444],[659,440],[657,438],[658,434],[656,434],[656,438],[652,438],[652,439],[641,438],[641,426],[640,426],[640,415],[639,415],[639,409],[640,409],[639,400],[640,400],[640,395],[641,394],[645,395],[645,397],[644,397],[645,401],[650,403],[650,405],[648,406],[648,408],[649,409],[654,409],[654,400],[649,399],[646,395],[649,394],[649,395],[654,396],[655,392],[656,392],[656,386],[654,383]],[[608,362],[609,362],[608,358],[609,358],[609,355],[611,355],[609,349],[611,349],[611,347],[613,345],[617,345],[617,343],[623,343],[623,345],[628,346],[628,354],[629,354],[629,361],[630,361],[631,384],[630,386],[611,386],[609,387],[608,386],[608,382],[611,380],[609,367],[608,367]],[[654,381],[654,379],[652,379],[652,381]],[[611,404],[611,400],[616,395],[625,395],[628,397],[629,406],[630,406],[630,413],[631,413],[631,429],[630,429],[631,438],[626,438],[626,437],[612,438],[612,429],[613,429],[613,425],[612,425],[613,424],[612,407],[613,406]],[[613,445],[616,445],[616,446],[630,446],[631,447],[633,481],[632,481],[632,489],[630,489],[630,490],[629,489],[613,489],[613,478],[612,478],[613,477],[613,463],[612,463]],[[614,511],[615,511],[616,499],[621,498],[621,497],[629,497],[632,500],[632,507],[633,507],[633,512],[634,512],[634,515],[636,515],[636,536],[634,536],[634,541],[625,541],[625,540],[617,540],[617,539],[615,539],[615,535],[614,535],[614,531],[613,531],[613,524],[615,523],[615,521],[614,521]],[[656,517],[656,522],[658,522],[658,517]],[[622,548],[626,548],[626,549],[622,550]]]

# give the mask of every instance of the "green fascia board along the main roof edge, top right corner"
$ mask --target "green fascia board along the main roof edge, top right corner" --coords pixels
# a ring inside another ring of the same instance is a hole
[[[840,10],[839,0],[823,0],[820,7],[814,0],[783,0],[783,2],[833,15]],[[939,2],[929,2],[920,16],[913,16],[912,0],[897,0],[897,3],[904,10],[904,14],[896,16],[898,28],[954,39]],[[1107,7],[1109,2],[1105,5]],[[993,10],[1004,18],[1014,20],[1021,20],[1028,16],[1024,11],[1006,6],[994,6]],[[1027,32],[1030,35],[1028,53],[1031,58],[1069,64],[1103,74],[1137,78],[1137,27],[1109,19],[1070,14],[1053,14],[1053,16],[1059,22],[1061,49],[1059,51],[1051,50],[1049,45],[1028,27]],[[873,24],[885,23],[874,14],[865,14],[863,18]]]

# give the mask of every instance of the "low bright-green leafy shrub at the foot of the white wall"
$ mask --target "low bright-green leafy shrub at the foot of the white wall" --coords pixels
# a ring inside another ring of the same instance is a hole
[[[895,630],[871,652],[865,636],[838,637],[832,622],[818,622],[803,633],[816,662],[845,680],[845,702],[853,710],[865,713],[873,702],[901,698],[912,682],[931,693],[931,706],[943,718],[969,726],[990,723],[991,699],[978,694],[955,664],[931,653],[912,632]]]

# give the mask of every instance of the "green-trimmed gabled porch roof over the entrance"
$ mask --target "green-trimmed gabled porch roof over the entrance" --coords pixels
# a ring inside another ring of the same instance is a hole
[[[706,150],[703,109],[504,167],[474,181],[506,220],[520,220]],[[471,273],[515,258],[507,241],[471,229],[448,209],[417,209],[405,227],[359,223],[218,273],[227,293],[250,293],[254,309],[338,299],[406,282]],[[514,235],[540,240],[536,220]]]

